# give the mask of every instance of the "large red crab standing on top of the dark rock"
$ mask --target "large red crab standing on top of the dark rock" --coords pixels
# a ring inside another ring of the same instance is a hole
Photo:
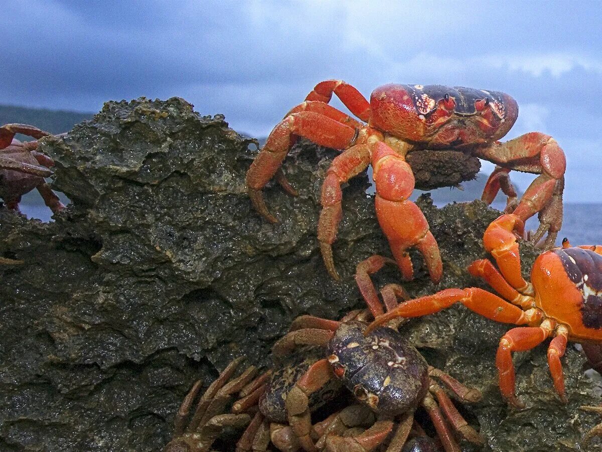
[[[364,122],[328,105],[332,93]],[[501,92],[389,84],[374,90],[368,102],[343,81],[323,81],[270,133],[247,172],[249,196],[262,216],[276,222],[261,190],[276,175],[287,192],[296,193],[280,167],[297,137],[343,149],[326,172],[318,222],[318,240],[330,275],[338,279],[332,243],[342,215],[340,184],[371,164],[376,216],[403,277],[412,278],[408,248],[415,247],[423,254],[430,277],[436,282],[442,274],[441,256],[426,218],[408,200],[414,190],[414,175],[405,155],[420,149],[456,149],[498,165],[487,181],[483,201],[491,203],[501,189],[509,197],[507,211],[522,221],[539,212],[541,224],[532,238],[537,242],[547,232],[544,246],[548,249],[562,225],[565,155],[556,140],[538,132],[498,142],[517,116],[517,102]],[[512,169],[539,174],[520,202],[509,180]]]

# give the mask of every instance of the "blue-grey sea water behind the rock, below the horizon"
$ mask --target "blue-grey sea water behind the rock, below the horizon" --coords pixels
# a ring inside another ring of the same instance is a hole
[[[436,202],[438,207],[444,204]],[[20,204],[21,212],[29,218],[39,218],[51,221],[51,212],[40,204]],[[494,203],[493,207],[503,210],[504,204]],[[573,204],[564,205],[562,229],[558,234],[556,245],[560,246],[563,237],[567,237],[571,245],[602,245],[602,204]],[[535,231],[539,225],[537,216],[527,221],[526,228]]]

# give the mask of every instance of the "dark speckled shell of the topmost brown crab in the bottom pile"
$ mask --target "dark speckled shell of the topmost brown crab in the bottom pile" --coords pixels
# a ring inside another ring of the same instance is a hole
[[[343,322],[329,344],[335,375],[374,412],[396,416],[414,410],[429,388],[428,364],[400,334],[379,327],[364,337],[366,324]]]

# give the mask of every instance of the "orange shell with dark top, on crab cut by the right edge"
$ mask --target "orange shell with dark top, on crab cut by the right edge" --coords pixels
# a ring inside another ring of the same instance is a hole
[[[595,246],[554,248],[533,263],[535,303],[569,328],[569,338],[602,341],[602,256]]]

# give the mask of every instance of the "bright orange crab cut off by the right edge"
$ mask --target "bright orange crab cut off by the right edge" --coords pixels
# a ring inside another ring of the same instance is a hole
[[[523,406],[515,395],[512,352],[530,350],[553,336],[548,365],[554,388],[565,402],[560,359],[566,342],[602,342],[602,246],[571,246],[564,239],[562,247],[537,257],[531,282],[527,282],[521,275],[517,237],[513,233],[523,233],[523,227],[517,215],[497,218],[486,229],[483,244],[499,271],[487,259],[476,260],[468,267],[471,275],[485,279],[503,298],[477,287],[441,290],[406,301],[379,316],[366,334],[393,318],[420,317],[458,302],[488,319],[528,325],[512,328],[501,338],[495,358],[501,394],[513,406]]]

